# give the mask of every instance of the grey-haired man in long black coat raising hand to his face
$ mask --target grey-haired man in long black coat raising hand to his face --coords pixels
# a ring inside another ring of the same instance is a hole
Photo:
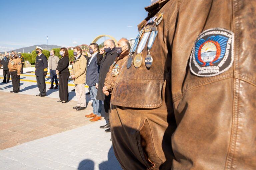
[[[104,102],[104,109],[106,112],[105,120],[106,125],[101,126],[100,128],[108,128],[105,130],[105,132],[110,132],[110,125],[109,125],[109,108],[110,108],[110,99],[111,94],[106,96],[102,88],[104,87],[106,75],[109,71],[109,67],[113,64],[118,54],[115,50],[115,42],[113,40],[106,40],[104,42],[104,48],[100,49],[99,54],[97,55],[97,64],[100,65],[100,71],[99,71],[99,83],[96,85],[96,88],[99,89],[97,92],[97,100],[102,100]],[[104,52],[106,52],[105,56],[103,57]],[[98,86],[98,87],[97,87]]]

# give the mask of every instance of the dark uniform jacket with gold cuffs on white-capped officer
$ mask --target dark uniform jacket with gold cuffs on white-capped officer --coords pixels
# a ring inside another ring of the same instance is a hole
[[[47,73],[48,62],[46,56],[42,53],[40,56],[36,56],[35,74],[36,76],[43,76]]]

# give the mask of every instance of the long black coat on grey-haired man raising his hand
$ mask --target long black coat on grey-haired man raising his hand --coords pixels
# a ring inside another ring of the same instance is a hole
[[[105,78],[109,71],[109,67],[113,64],[117,56],[118,54],[116,53],[115,48],[106,53],[105,57],[103,57],[103,54],[97,54],[97,64],[100,65],[99,87],[96,97],[97,100],[110,101],[111,99],[111,95],[106,96],[102,92],[102,88],[104,87]]]

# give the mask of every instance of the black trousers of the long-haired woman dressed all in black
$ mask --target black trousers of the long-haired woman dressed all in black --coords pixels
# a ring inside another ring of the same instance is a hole
[[[60,100],[68,101],[68,78],[69,73],[59,73]]]

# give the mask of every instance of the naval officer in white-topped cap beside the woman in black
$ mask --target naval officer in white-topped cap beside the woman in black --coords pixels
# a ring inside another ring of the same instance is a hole
[[[44,97],[46,96],[46,84],[45,84],[45,76],[48,71],[48,62],[46,56],[42,53],[43,48],[36,46],[36,65],[35,65],[35,74],[36,81],[39,88],[40,93],[36,96]]]

